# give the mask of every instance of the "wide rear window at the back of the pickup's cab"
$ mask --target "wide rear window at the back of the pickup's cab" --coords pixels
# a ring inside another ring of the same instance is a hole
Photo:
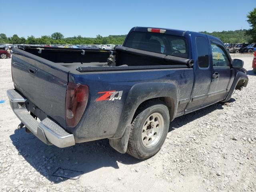
[[[188,45],[186,39],[181,36],[152,32],[131,32],[124,46],[188,58]]]

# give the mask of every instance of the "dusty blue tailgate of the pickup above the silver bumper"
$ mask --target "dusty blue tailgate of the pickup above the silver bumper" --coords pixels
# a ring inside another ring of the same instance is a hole
[[[15,89],[63,127],[66,127],[66,70],[56,63],[18,48],[13,49],[12,78]]]

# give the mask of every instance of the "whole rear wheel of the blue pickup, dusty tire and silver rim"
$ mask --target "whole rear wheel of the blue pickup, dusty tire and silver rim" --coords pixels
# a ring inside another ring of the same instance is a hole
[[[145,160],[164,144],[170,124],[169,110],[164,102],[150,100],[142,104],[134,116],[127,153]]]

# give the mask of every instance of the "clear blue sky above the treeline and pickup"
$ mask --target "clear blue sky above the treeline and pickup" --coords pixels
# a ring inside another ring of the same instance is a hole
[[[127,34],[134,26],[248,29],[246,14],[254,7],[255,0],[8,0],[0,7],[0,33],[96,37]]]

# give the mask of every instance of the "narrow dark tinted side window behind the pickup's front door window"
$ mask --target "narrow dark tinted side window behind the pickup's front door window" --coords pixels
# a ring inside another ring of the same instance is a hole
[[[209,67],[209,44],[204,37],[196,37],[196,51],[198,57],[198,66],[200,68]]]

